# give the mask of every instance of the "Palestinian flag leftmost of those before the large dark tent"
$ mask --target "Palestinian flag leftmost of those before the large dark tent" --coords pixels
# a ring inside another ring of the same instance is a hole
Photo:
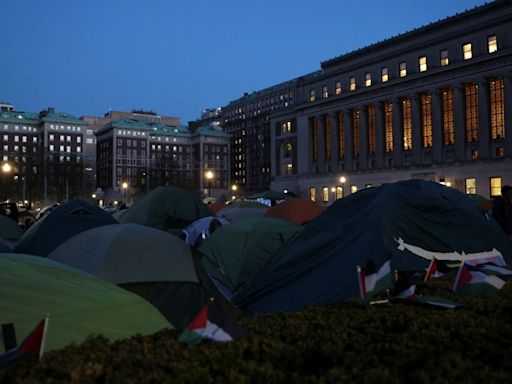
[[[373,262],[370,260],[362,269],[357,266],[359,280],[359,292],[361,300],[367,300],[393,286],[393,273],[391,273],[391,262],[388,260],[375,271]]]

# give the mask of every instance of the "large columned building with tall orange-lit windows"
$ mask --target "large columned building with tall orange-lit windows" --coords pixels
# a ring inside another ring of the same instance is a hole
[[[272,127],[272,189],[328,204],[362,188],[428,179],[499,195],[512,184],[511,31],[512,3],[496,1],[293,81],[293,105],[255,129]]]

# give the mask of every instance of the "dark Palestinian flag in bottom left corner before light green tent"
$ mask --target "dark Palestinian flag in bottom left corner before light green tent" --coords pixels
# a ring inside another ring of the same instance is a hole
[[[37,356],[40,359],[44,353],[44,340],[47,328],[48,317],[44,318],[34,328],[19,347],[12,348],[3,355],[0,355],[0,370],[8,368],[29,356]]]

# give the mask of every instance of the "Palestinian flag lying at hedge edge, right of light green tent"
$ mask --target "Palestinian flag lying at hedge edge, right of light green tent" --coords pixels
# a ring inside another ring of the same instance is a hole
[[[215,301],[210,301],[187,325],[178,340],[184,344],[195,345],[204,339],[225,342],[243,339],[246,335],[245,328],[224,314]]]

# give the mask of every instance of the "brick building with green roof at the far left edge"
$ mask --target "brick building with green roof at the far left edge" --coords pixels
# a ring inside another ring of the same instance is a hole
[[[62,201],[82,195],[82,120],[54,108],[3,110],[0,124],[2,162],[11,169],[3,175],[3,199]]]

